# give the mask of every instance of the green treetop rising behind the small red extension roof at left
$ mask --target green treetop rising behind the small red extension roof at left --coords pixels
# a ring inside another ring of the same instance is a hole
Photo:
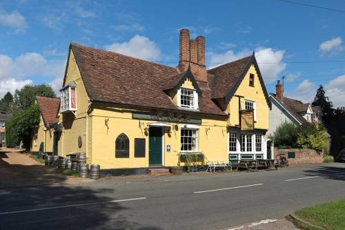
[[[16,111],[24,111],[34,104],[35,97],[56,97],[52,86],[47,84],[26,85],[21,90],[16,90],[14,94],[14,106]]]

